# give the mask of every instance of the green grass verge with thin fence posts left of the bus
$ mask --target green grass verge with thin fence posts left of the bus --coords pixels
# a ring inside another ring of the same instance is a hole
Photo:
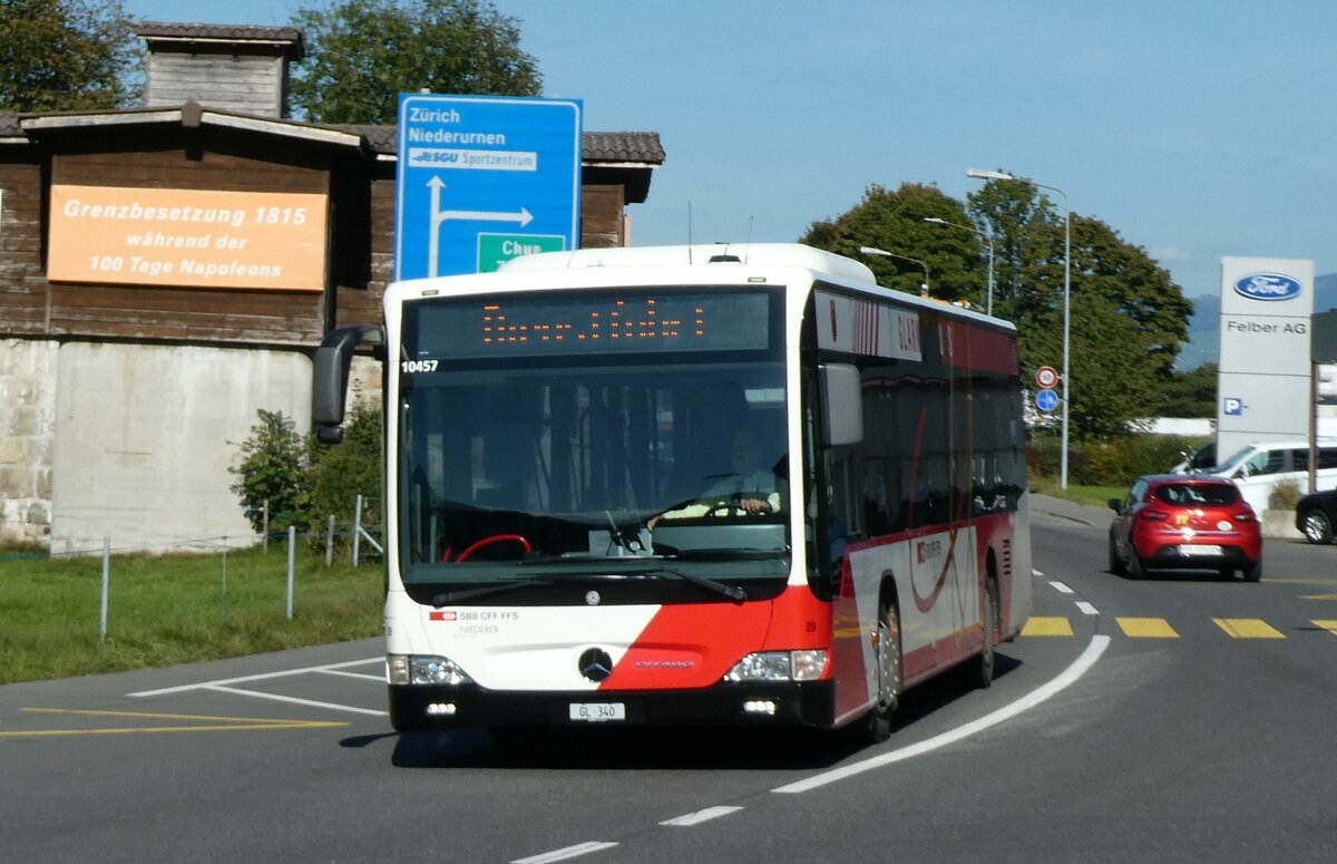
[[[102,639],[102,558],[0,550],[0,683],[174,666],[361,639],[381,633],[385,571],[326,570],[297,550],[287,619],[287,550],[112,555]]]

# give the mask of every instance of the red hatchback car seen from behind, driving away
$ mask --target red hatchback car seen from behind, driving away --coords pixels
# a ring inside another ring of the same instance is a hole
[[[1138,477],[1127,498],[1111,499],[1110,572],[1138,579],[1147,570],[1243,571],[1262,578],[1262,526],[1239,487],[1211,475]]]

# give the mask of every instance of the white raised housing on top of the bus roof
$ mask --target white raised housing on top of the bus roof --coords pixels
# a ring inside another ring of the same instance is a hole
[[[826,273],[849,282],[877,285],[866,265],[836,253],[802,243],[695,243],[691,246],[630,246],[612,249],[579,249],[576,251],[543,251],[520,255],[501,265],[507,273],[529,270],[574,270],[579,267],[655,267],[655,266],[754,266],[804,267]]]

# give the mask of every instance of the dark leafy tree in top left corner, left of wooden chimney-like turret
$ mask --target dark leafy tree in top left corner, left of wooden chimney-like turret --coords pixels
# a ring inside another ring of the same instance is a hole
[[[0,111],[126,107],[138,48],[120,0],[0,0]]]

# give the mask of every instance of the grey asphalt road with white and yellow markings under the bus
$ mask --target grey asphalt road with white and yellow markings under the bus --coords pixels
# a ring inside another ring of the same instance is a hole
[[[1104,571],[1036,506],[1036,617],[880,746],[396,736],[378,639],[0,687],[0,861],[1334,861],[1337,547]]]

